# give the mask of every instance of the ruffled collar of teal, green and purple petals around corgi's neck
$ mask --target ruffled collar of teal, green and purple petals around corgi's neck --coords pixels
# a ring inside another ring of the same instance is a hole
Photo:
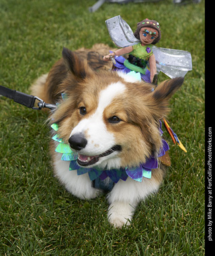
[[[52,129],[54,129],[54,131],[58,131],[58,125],[56,123],[53,123],[51,127]],[[162,136],[163,131],[161,130],[161,121],[160,121],[159,131]],[[126,179],[130,177],[135,181],[141,182],[142,177],[150,179],[151,169],[158,168],[157,158],[154,158],[153,156],[151,156],[145,163],[142,163],[139,166],[136,166],[134,168],[130,168],[130,167],[120,168],[120,169],[114,168],[111,170],[101,170],[96,166],[93,168],[84,168],[77,164],[78,154],[73,152],[69,144],[64,143],[64,141],[62,141],[62,139],[59,137],[58,134],[54,135],[52,139],[58,142],[58,146],[56,146],[55,151],[62,154],[61,160],[70,161],[69,170],[77,170],[78,175],[88,173],[89,179],[91,181],[95,181],[95,179],[98,179],[98,178],[101,179],[101,181],[103,181],[107,177],[110,177],[110,179],[114,181],[114,183],[118,183],[120,179],[122,179],[122,181],[126,181]],[[165,155],[165,152],[169,150],[167,141],[162,139],[162,142],[163,142],[163,146],[161,147],[159,156],[157,156],[158,158]]]

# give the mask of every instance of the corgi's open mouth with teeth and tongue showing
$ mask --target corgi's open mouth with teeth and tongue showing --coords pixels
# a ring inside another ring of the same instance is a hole
[[[108,156],[110,154],[112,154],[115,151],[121,151],[122,147],[120,145],[116,145],[112,148],[110,148],[110,150],[107,150],[105,152],[103,152],[102,154],[99,154],[97,156],[83,156],[81,154],[79,154],[79,157],[77,159],[77,163],[80,166],[90,166],[92,164],[95,164],[96,162],[99,161],[99,158],[102,158],[103,156]]]

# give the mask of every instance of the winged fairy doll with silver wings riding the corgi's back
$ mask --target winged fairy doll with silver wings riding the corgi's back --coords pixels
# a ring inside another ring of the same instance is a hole
[[[115,70],[139,72],[141,78],[150,83],[160,71],[173,78],[184,77],[192,69],[189,52],[155,46],[161,39],[161,26],[156,20],[138,22],[134,33],[120,15],[105,23],[113,42],[120,47],[103,57],[104,61],[113,61]],[[124,59],[122,55],[127,54],[128,59]]]

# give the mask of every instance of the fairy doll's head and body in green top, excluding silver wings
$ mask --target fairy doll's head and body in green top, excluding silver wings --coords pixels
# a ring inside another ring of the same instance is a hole
[[[134,36],[140,40],[138,44],[118,49],[114,53],[105,55],[103,60],[110,61],[115,56],[129,54],[128,59],[116,59],[116,68],[120,69],[121,67],[125,73],[128,73],[131,70],[140,72],[141,77],[145,82],[153,82],[153,78],[157,74],[157,66],[152,46],[161,39],[161,27],[156,20],[145,19],[142,20],[142,22],[138,22]],[[124,67],[120,65],[120,63],[122,64],[122,61]],[[147,64],[150,67],[150,71],[147,68]]]

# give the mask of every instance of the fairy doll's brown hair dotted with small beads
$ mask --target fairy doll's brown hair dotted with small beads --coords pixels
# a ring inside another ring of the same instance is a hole
[[[134,32],[134,36],[139,40],[140,40],[140,29],[144,27],[154,28],[155,30],[157,30],[159,35],[152,42],[152,44],[157,44],[157,42],[159,42],[159,40],[161,39],[161,26],[159,25],[159,23],[156,20],[148,20],[148,19],[142,20],[142,22],[138,22],[136,26],[136,31]]]

